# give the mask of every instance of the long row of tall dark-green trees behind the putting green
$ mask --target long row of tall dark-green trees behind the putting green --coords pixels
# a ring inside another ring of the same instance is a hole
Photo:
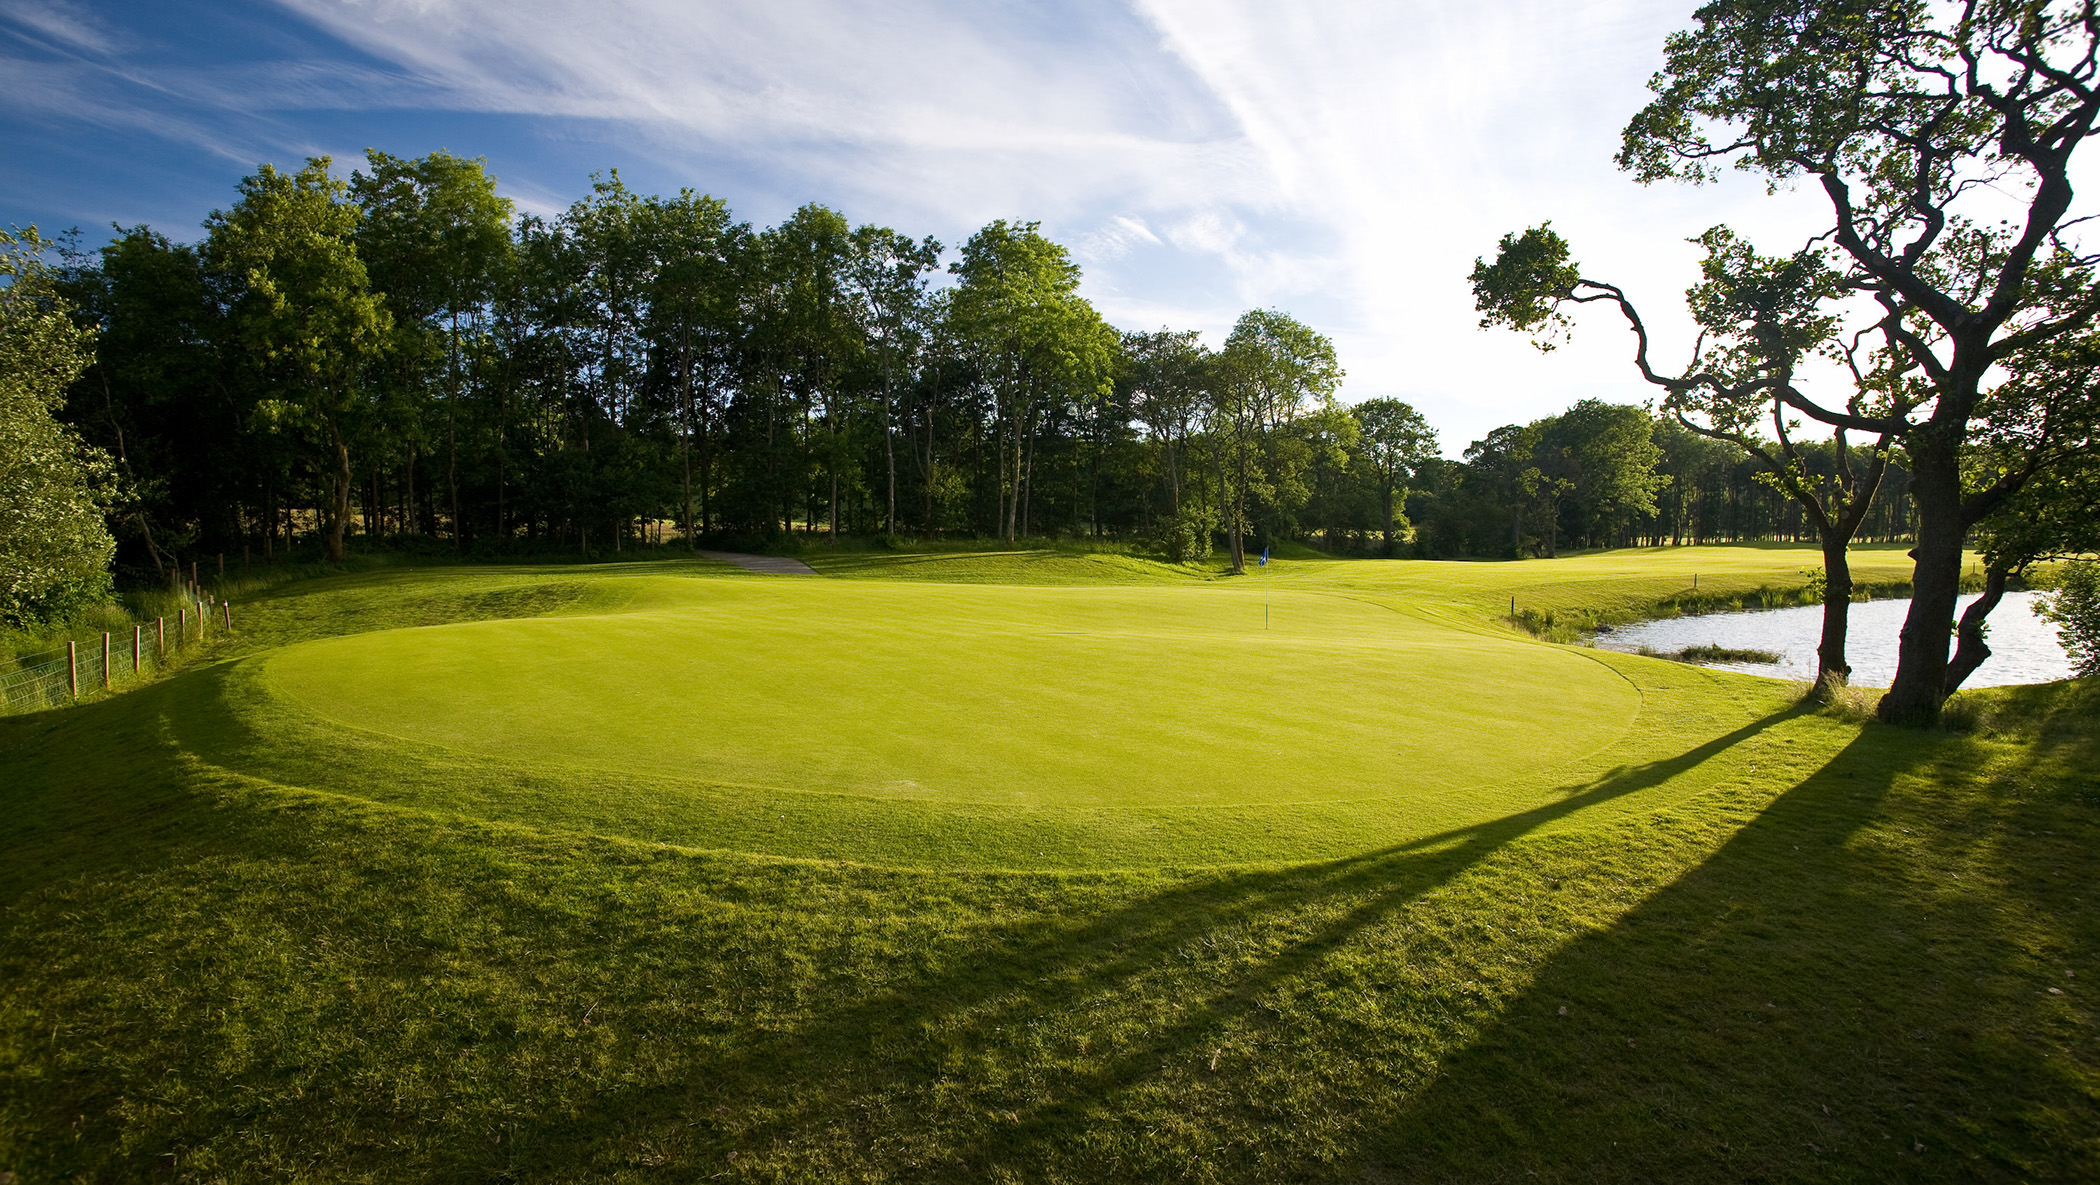
[[[943,269],[945,263],[945,269]],[[260,168],[197,244],[122,229],[59,290],[94,330],[65,418],[111,460],[120,563],[346,538],[462,550],[1096,536],[1174,559],[1800,536],[1741,454],[1583,401],[1438,458],[1342,408],[1334,345],[1117,332],[1069,252],[956,252],[804,206],[777,227],[617,174],[517,216],[477,160]],[[1900,475],[1869,536],[1909,529]]]

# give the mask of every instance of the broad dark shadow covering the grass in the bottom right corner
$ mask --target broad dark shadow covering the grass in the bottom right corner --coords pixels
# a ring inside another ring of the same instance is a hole
[[[2100,1179],[2100,729],[2090,689],[2024,700],[1984,792],[1961,737],[1871,725],[1556,956],[1361,1177]]]

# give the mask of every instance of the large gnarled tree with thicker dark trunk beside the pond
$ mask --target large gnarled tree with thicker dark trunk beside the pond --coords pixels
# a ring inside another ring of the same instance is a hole
[[[1964,540],[2022,477],[1966,487],[1993,372],[2018,372],[2100,311],[2071,237],[2071,162],[2100,122],[2092,0],[1714,0],[1674,34],[1625,126],[1640,181],[1722,164],[1829,202],[1842,284],[1882,311],[1926,397],[1850,408],[1783,395],[1823,424],[1888,435],[1917,506],[1913,601],[1880,716],[1932,723],[1947,693]]]

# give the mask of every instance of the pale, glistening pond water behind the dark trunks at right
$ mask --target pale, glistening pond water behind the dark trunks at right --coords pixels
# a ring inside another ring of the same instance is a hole
[[[1976,597],[1961,597],[1955,616],[1959,618],[1972,601]],[[2035,592],[2006,592],[1997,609],[1991,609],[1991,630],[1987,635],[1991,658],[1976,668],[1976,674],[1968,677],[1964,687],[2071,679],[2071,658],[2064,656],[2064,647],[2056,639],[2056,626],[2037,618],[2033,603]],[[1909,599],[1852,605],[1846,658],[1852,662],[1854,687],[1888,687],[1890,679],[1896,677],[1896,635],[1903,630],[1903,616],[1909,611]],[[1764,649],[1779,653],[1781,662],[1709,662],[1705,666],[1770,674],[1774,679],[1800,679],[1806,683],[1816,677],[1816,639],[1821,632],[1823,605],[1802,605],[1798,609],[1751,609],[1743,614],[1638,622],[1600,632],[1596,645],[1598,649],[1628,653],[1640,647],[1657,653],[1678,653],[1695,645]]]

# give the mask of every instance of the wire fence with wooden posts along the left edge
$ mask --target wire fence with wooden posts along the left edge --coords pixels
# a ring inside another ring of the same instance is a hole
[[[164,674],[185,651],[231,630],[233,605],[200,599],[174,618],[139,622],[128,632],[17,656],[0,670],[0,712],[63,708],[136,687]]]

